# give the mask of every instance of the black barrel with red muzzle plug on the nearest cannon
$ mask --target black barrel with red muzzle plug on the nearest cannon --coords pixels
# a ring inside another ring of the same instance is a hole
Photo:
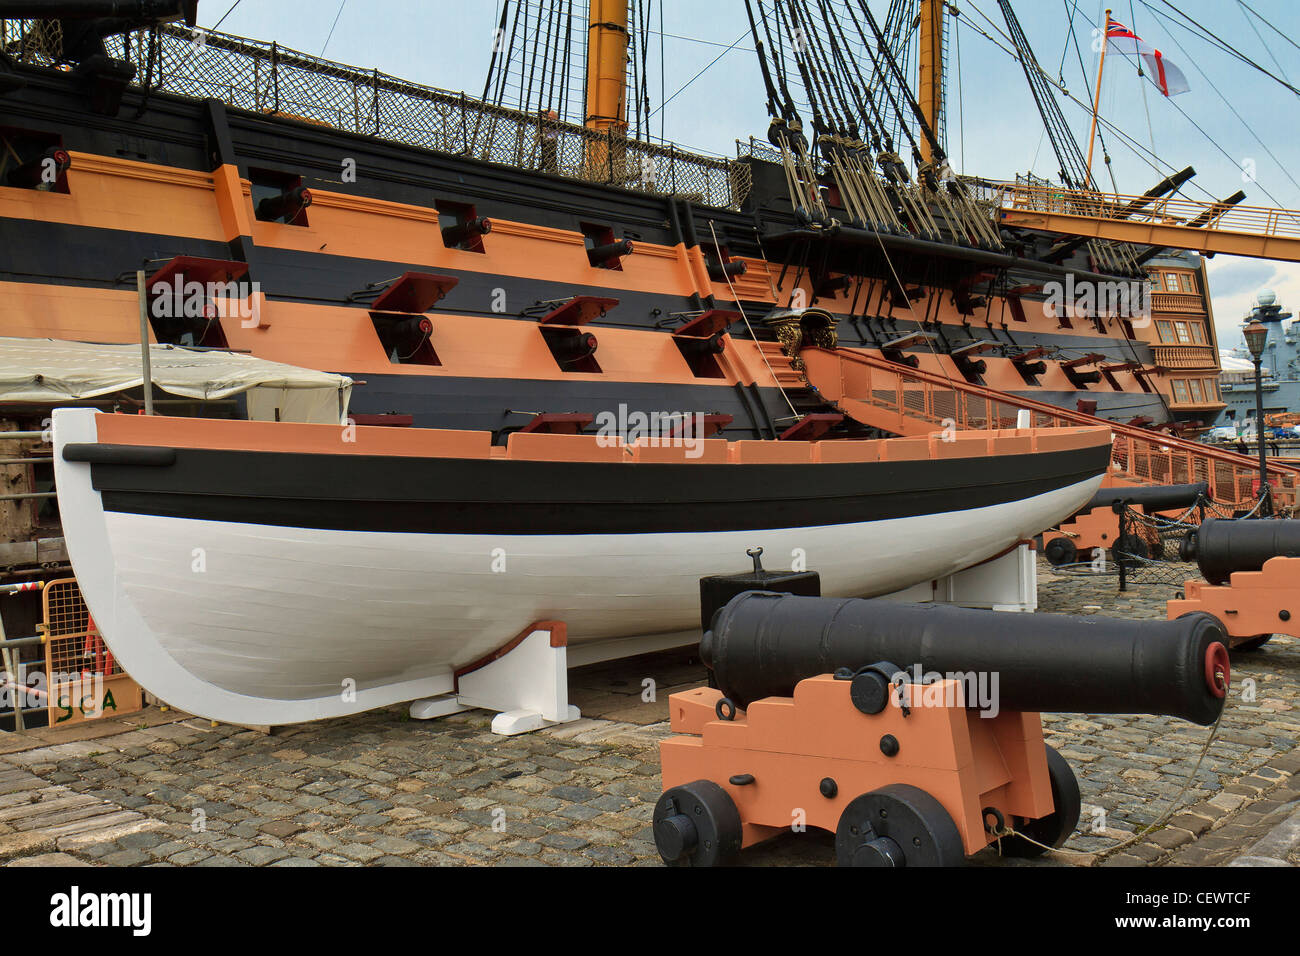
[[[1223,626],[1201,613],[1132,622],[748,592],[714,615],[701,659],[741,708],[789,697],[819,674],[890,661],[945,676],[997,675],[1004,710],[1210,724],[1226,696],[1227,644]]]

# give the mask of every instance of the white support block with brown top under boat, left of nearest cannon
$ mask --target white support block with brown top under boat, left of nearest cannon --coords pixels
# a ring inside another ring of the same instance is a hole
[[[568,648],[563,624],[536,624],[499,657],[456,682],[456,693],[416,701],[411,717],[432,719],[472,709],[499,711],[493,734],[514,736],[582,717],[568,702]]]

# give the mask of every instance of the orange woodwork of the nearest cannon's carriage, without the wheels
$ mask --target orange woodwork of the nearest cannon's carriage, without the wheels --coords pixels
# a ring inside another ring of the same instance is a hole
[[[829,675],[800,682],[793,697],[755,701],[734,721],[718,719],[722,692],[675,693],[668,704],[679,736],[659,745],[663,788],[696,780],[722,786],[740,810],[744,845],[751,847],[798,822],[833,832],[844,809],[863,793],[905,783],[930,793],[957,823],[967,855],[993,838],[984,809],[1037,819],[1056,808],[1037,714],[1001,711],[984,718],[967,710],[954,680],[905,684],[907,715],[892,701],[863,714],[849,697],[850,682]],[[880,739],[898,741],[887,757]],[[750,774],[748,786],[732,777]],[[822,795],[824,778],[836,782]]]

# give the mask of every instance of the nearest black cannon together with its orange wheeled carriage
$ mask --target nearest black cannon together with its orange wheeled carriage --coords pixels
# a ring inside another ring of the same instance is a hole
[[[716,688],[673,695],[654,836],[725,864],[792,825],[853,866],[954,865],[1074,831],[1079,787],[1039,713],[1213,723],[1230,680],[1206,614],[1124,622],[749,592],[701,644]]]

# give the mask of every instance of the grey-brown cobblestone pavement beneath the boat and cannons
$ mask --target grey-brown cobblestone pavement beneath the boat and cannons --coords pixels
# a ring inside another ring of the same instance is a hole
[[[1191,575],[1191,572],[1190,572]],[[1049,572],[1044,611],[1164,618],[1169,588]],[[1234,656],[1234,695],[1208,730],[1150,717],[1045,715],[1083,791],[1071,853],[1005,865],[1202,865],[1292,855],[1300,823],[1300,643]],[[277,730],[195,718],[0,756],[0,858],[16,865],[658,865],[650,814],[668,696],[698,684],[689,654],[573,674],[585,719],[502,739],[485,714],[420,723],[403,708]],[[644,682],[655,702],[642,702]],[[1243,680],[1254,700],[1243,700]],[[156,714],[153,721],[159,719]],[[1292,777],[1296,774],[1296,777]],[[1190,788],[1183,793],[1184,786]],[[1166,826],[1097,855],[1160,818]],[[1271,839],[1271,843],[1269,842]],[[824,834],[789,834],[750,865],[832,862]],[[996,852],[976,857],[1004,865]]]

